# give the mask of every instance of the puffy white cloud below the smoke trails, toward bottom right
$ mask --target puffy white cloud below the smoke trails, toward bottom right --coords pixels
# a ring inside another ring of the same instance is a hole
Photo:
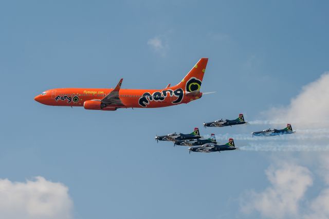
[[[241,209],[244,213],[258,211],[268,218],[297,218],[299,203],[313,179],[305,167],[281,163],[266,170],[270,186],[262,192],[248,192]]]

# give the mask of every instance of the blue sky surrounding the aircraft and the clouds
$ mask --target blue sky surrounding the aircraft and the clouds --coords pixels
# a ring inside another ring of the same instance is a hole
[[[0,3],[0,178],[60,182],[74,218],[266,216],[242,212],[244,195],[268,187],[264,171],[279,158],[312,172],[319,152],[189,155],[154,136],[265,129],[202,123],[239,113],[257,120],[317,80],[329,68],[327,11],[326,1]],[[33,100],[43,90],[113,87],[120,78],[123,88],[162,88],[202,57],[209,58],[202,91],[216,93],[188,105],[92,112]],[[324,185],[312,174],[305,199]]]

